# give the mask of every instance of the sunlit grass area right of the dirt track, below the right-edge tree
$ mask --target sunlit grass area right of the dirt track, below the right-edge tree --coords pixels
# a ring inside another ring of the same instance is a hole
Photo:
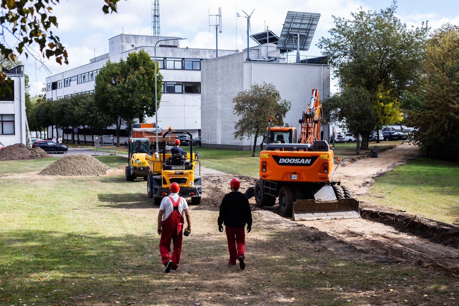
[[[417,158],[376,179],[369,196],[375,205],[458,223],[459,164]]]

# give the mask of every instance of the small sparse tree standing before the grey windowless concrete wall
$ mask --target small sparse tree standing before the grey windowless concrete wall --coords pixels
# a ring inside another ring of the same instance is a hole
[[[284,117],[291,102],[280,100],[279,91],[272,83],[253,84],[233,98],[233,113],[239,117],[235,122],[234,138],[254,138],[252,157],[255,157],[257,138],[266,134],[268,118],[274,125],[284,125]]]

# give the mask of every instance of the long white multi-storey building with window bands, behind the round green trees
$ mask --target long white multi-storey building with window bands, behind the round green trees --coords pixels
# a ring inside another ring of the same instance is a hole
[[[154,46],[157,45],[156,59],[164,81],[162,99],[158,108],[158,126],[185,129],[195,137],[200,136],[201,62],[203,59],[215,57],[216,50],[181,48],[179,39],[170,39],[173,38],[125,34],[115,36],[108,40],[108,53],[91,59],[87,65],[46,78],[46,98],[56,100],[68,95],[93,92],[95,76],[107,59],[110,61],[126,59],[129,52],[140,49],[148,52],[154,59]],[[186,40],[182,44],[186,45]],[[235,50],[218,50],[218,55],[225,56],[235,52]],[[154,117],[146,118],[147,123],[155,120]],[[64,132],[71,133],[71,129],[65,129]],[[125,130],[122,132],[121,136],[124,137],[121,142],[128,136]],[[107,133],[116,135],[114,129]],[[71,136],[65,135],[64,139],[67,138]],[[82,135],[80,135],[81,139]],[[87,135],[86,139],[90,141],[91,135]]]

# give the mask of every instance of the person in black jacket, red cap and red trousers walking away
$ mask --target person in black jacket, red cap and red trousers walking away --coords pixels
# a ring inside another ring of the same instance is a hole
[[[241,183],[237,178],[229,182],[231,192],[223,197],[218,216],[218,230],[223,232],[225,224],[226,239],[228,240],[229,265],[235,265],[236,259],[239,267],[243,270],[246,267],[244,250],[246,246],[246,233],[244,228],[247,224],[247,233],[252,229],[252,212],[250,211],[249,200],[239,192]]]

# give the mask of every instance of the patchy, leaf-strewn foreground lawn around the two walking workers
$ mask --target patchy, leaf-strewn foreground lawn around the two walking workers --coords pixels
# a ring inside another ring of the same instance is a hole
[[[241,159],[251,158],[239,153]],[[207,155],[216,163],[228,157],[225,152]],[[97,158],[112,167],[125,162],[120,156]],[[216,226],[218,211],[205,206],[190,207],[193,232],[184,238],[181,270],[165,274],[156,233],[158,207],[147,197],[145,182],[126,182],[123,176],[6,175],[40,171],[56,160],[0,161],[0,305],[290,305],[293,301],[292,305],[358,306],[398,303],[405,294],[414,305],[421,304],[425,294],[433,305],[441,305],[451,293],[458,293],[457,278],[396,262],[340,257],[321,239],[308,238],[314,228],[298,230],[257,219],[247,236],[248,266],[243,272],[232,269],[226,264],[226,238]],[[425,186],[433,184],[428,182],[435,175],[453,179],[442,173],[449,165],[436,165],[442,168],[422,169]],[[391,184],[407,185],[404,178],[394,175]],[[438,190],[426,190],[431,194],[425,197],[438,195]],[[388,296],[387,284],[396,291],[393,297]],[[372,293],[363,295],[367,290]]]

